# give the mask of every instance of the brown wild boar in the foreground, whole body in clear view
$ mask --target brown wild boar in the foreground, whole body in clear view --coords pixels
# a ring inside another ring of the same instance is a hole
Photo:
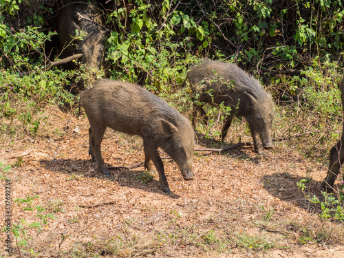
[[[89,155],[98,161],[100,171],[107,168],[100,153],[106,127],[141,136],[144,147],[144,168],[151,161],[159,173],[159,181],[170,192],[164,164],[158,147],[178,164],[185,180],[193,179],[194,133],[191,122],[164,100],[138,85],[119,80],[98,80],[91,89],[80,94],[89,119]]]

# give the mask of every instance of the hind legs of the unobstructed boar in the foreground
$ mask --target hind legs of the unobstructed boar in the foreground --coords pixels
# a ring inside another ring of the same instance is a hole
[[[100,144],[102,143],[105,129],[105,125],[91,125],[89,128],[89,155],[91,155],[92,160],[98,162],[100,171],[102,171],[104,175],[109,175],[102,153],[100,152]]]

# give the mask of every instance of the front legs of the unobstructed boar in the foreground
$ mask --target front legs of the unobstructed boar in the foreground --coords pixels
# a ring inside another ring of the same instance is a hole
[[[162,189],[166,193],[171,193],[169,189],[169,183],[167,182],[166,175],[164,172],[164,163],[162,163],[162,160],[158,153],[158,148],[153,146],[153,144],[151,144],[150,142],[147,142],[147,140],[143,140],[143,147],[144,147],[144,155],[145,155],[144,168],[150,170],[151,161],[153,161],[153,164],[159,173],[159,182],[162,186]]]

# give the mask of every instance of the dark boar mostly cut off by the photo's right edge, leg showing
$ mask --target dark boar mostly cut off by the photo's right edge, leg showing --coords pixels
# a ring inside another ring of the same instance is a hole
[[[342,107],[344,109],[344,78],[341,80],[341,84],[339,85],[339,89],[341,89],[341,99],[342,99]],[[327,175],[321,184],[321,189],[325,189],[326,193],[333,192],[333,185],[334,181],[337,178],[339,173],[339,169],[341,169],[341,165],[344,162],[344,125],[341,140],[337,142],[334,147],[332,147],[330,151],[330,166],[328,166]]]

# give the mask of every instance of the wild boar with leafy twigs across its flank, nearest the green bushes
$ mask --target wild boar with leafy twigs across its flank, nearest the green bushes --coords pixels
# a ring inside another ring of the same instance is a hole
[[[210,60],[204,60],[193,67],[186,77],[193,96],[200,94],[199,100],[202,103],[224,103],[231,108],[230,115],[225,118],[222,140],[225,140],[233,116],[237,113],[238,116],[246,118],[256,151],[261,154],[261,142],[265,149],[272,148],[275,105],[272,96],[261,87],[258,80],[237,65]],[[204,115],[202,107],[194,105],[194,117],[197,109]]]

